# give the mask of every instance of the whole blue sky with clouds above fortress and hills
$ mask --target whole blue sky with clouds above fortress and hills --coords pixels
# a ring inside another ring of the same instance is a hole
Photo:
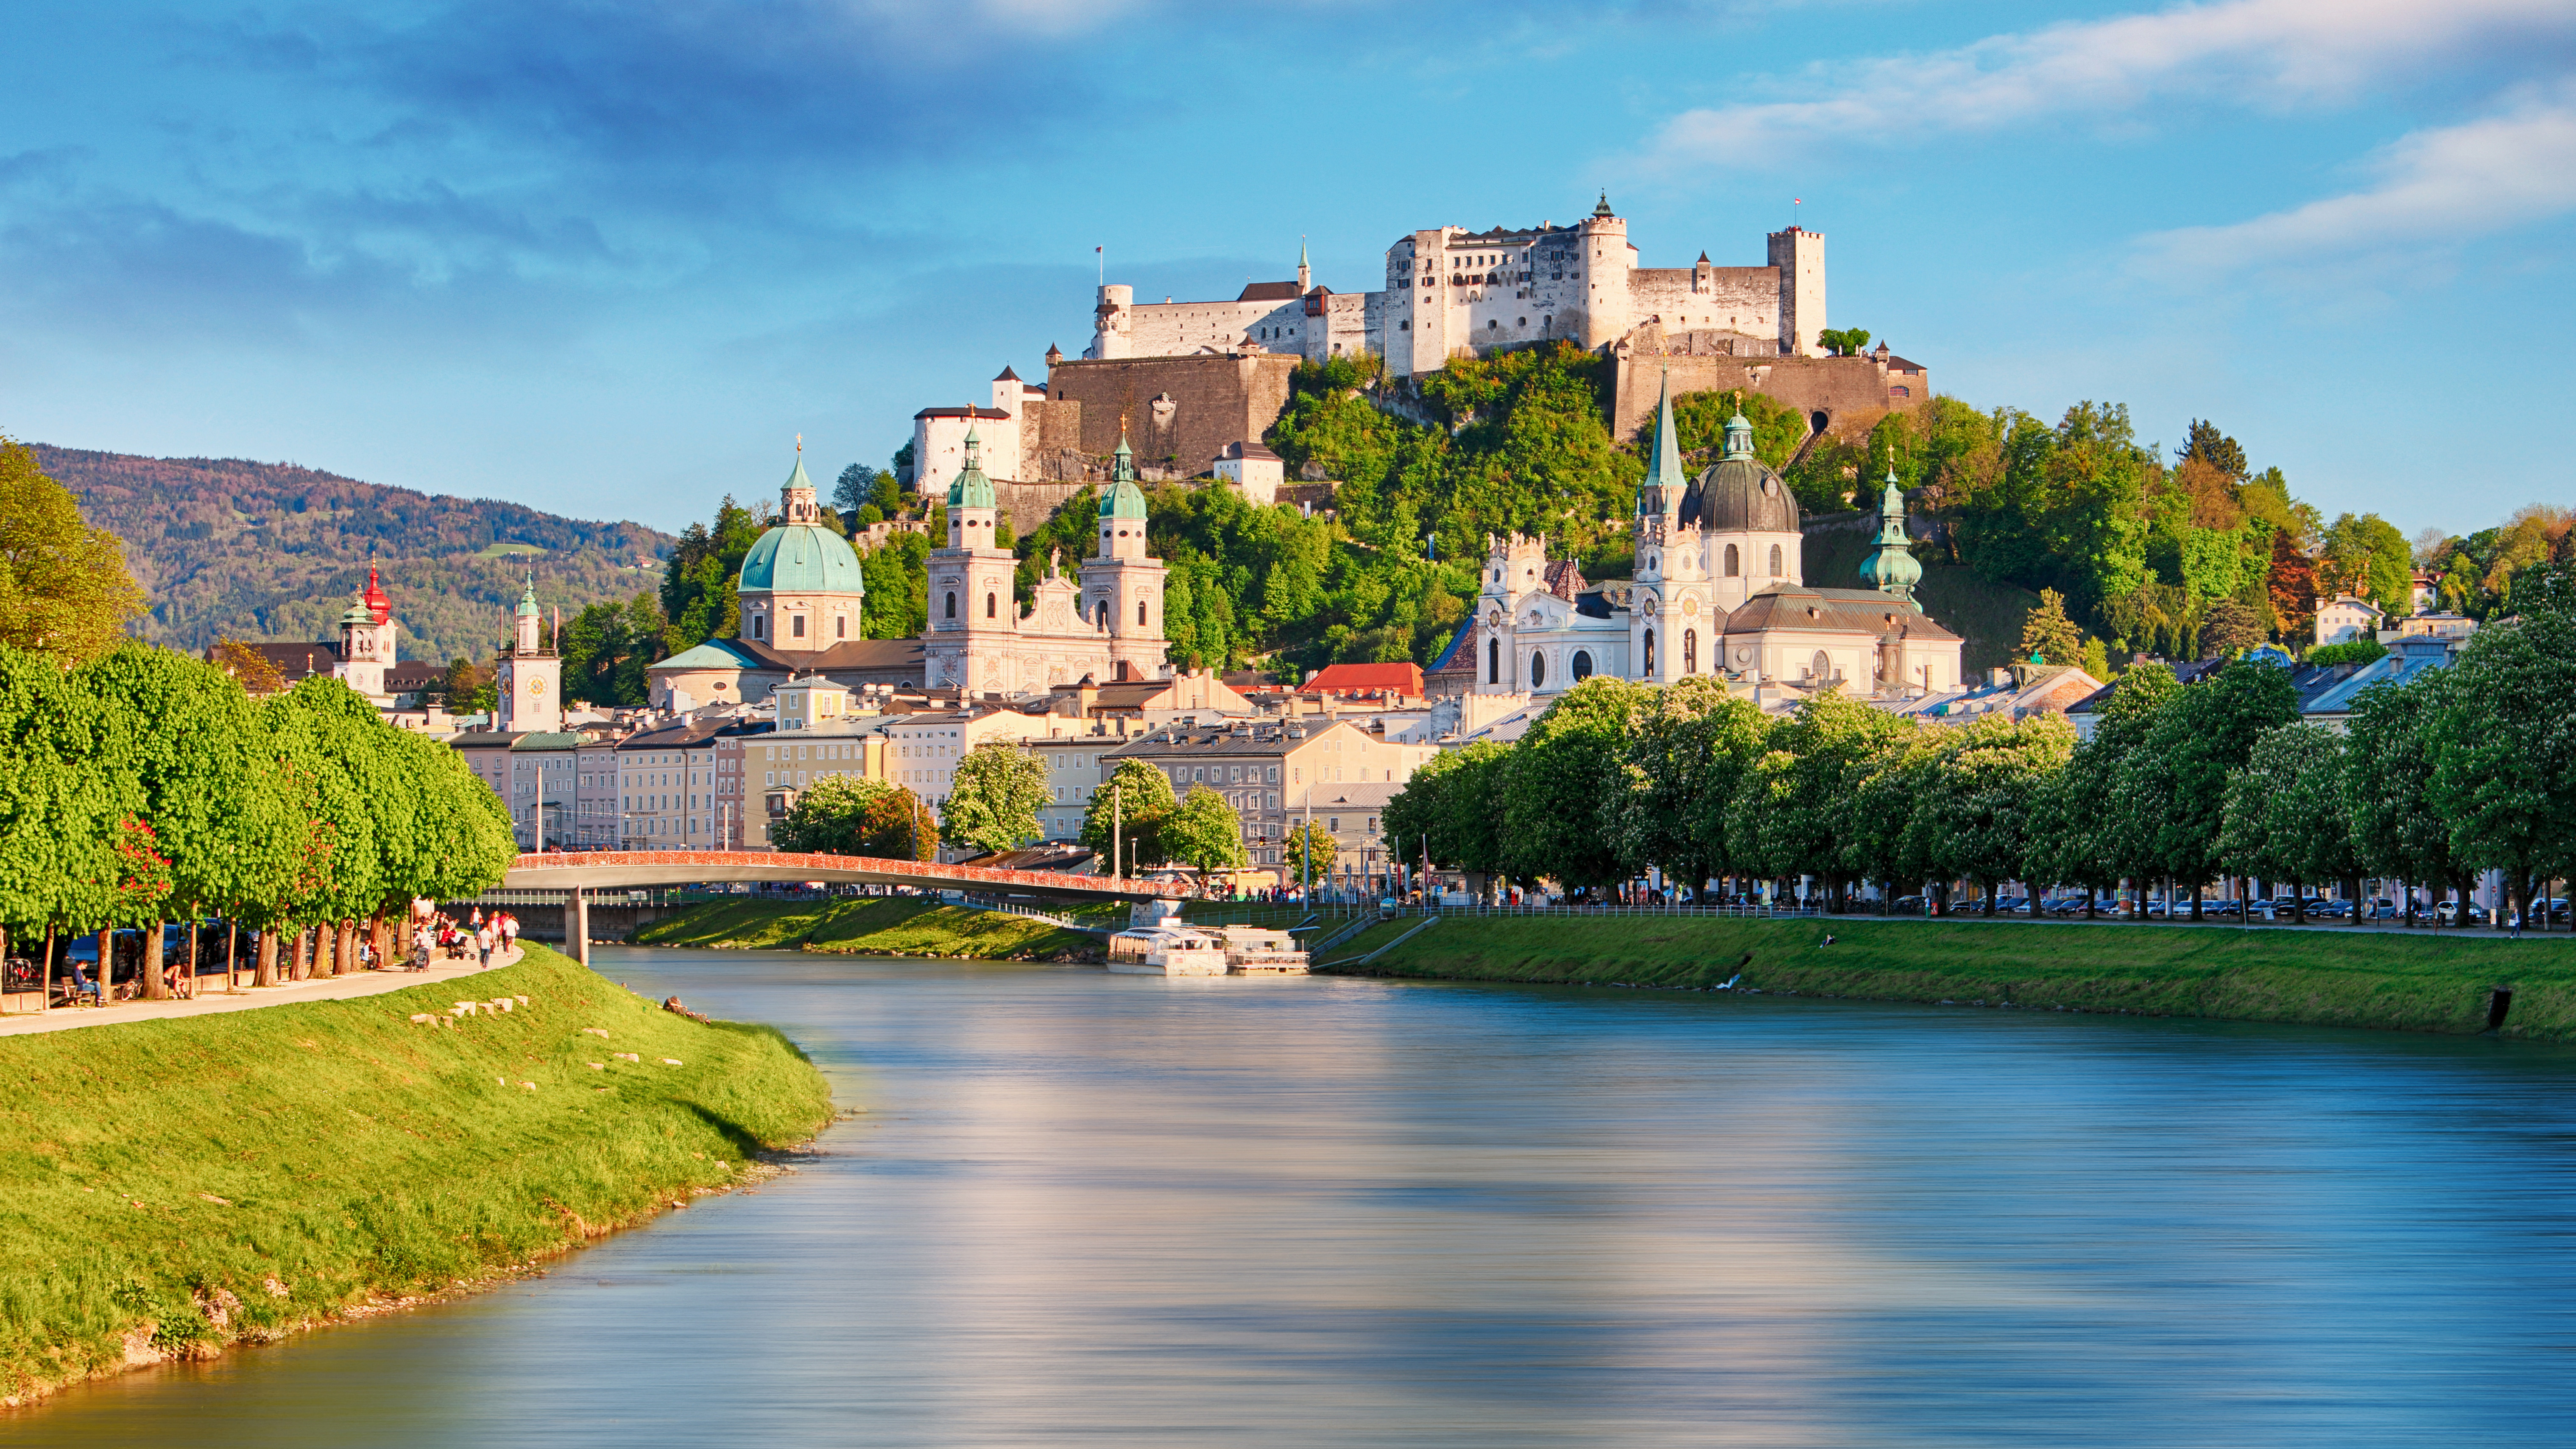
[[[1412,227],[1826,232],[1942,392],[2568,503],[2576,5],[18,0],[0,431],[662,529]]]

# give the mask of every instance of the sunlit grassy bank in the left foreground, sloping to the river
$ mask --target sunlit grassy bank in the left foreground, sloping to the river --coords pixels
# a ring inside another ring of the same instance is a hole
[[[410,1021],[466,995],[528,1003]],[[533,944],[389,995],[8,1036],[0,1080],[10,1403],[518,1271],[832,1111],[778,1031]]]

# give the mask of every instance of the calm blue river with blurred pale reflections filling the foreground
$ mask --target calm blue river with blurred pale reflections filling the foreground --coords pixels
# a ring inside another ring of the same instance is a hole
[[[868,1114],[0,1444],[2568,1444],[2576,1052],[603,951]]]

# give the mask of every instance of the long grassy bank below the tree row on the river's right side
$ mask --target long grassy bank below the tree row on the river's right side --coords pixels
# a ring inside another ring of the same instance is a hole
[[[1360,957],[1404,928],[1334,946]],[[1819,946],[1826,933],[1832,946]],[[1388,949],[1376,975],[1708,987],[1744,972],[1772,993],[2143,1016],[2483,1031],[2576,1039],[2576,941],[2491,933],[2076,926],[2030,920],[1728,920],[1685,915],[1450,918]]]

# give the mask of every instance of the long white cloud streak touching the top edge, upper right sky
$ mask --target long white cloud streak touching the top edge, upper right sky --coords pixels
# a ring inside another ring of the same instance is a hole
[[[2339,101],[2460,52],[2555,52],[2568,0],[2226,0],[2071,21],[1971,46],[1811,67],[1780,88],[1819,101],[1685,111],[1646,144],[1651,170],[1741,165],[1816,144],[1886,144],[2063,116],[2120,116],[2154,98],[2249,106]]]

